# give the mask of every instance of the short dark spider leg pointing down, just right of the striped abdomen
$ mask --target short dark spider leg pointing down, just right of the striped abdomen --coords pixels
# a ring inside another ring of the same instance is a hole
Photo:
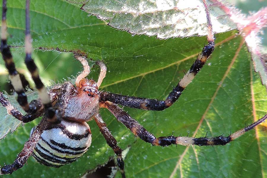
[[[113,149],[113,151],[117,155],[118,167],[120,168],[122,177],[125,178],[122,150],[120,149],[120,147],[118,147],[116,139],[112,136],[109,129],[107,128],[106,123],[104,123],[104,121],[102,120],[99,114],[95,115],[95,121],[100,129],[100,132],[103,134],[104,138],[107,140],[107,144]]]

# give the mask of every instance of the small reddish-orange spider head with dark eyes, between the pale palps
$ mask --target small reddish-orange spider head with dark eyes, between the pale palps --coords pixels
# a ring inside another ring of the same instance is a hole
[[[92,79],[88,80],[86,78],[83,78],[79,82],[78,88],[78,93],[80,94],[86,93],[90,97],[95,97],[99,95],[97,84]]]

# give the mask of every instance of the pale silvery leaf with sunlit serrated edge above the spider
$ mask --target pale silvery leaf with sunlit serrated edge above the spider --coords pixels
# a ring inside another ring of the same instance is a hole
[[[215,33],[236,28],[219,7],[210,5],[209,8]],[[156,35],[163,39],[207,34],[201,0],[89,0],[81,9],[102,20],[110,20],[109,25],[114,28],[133,34]]]

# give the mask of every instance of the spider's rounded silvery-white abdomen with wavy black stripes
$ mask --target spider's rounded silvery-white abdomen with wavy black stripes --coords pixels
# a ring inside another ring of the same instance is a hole
[[[32,155],[45,166],[60,167],[80,158],[90,147],[91,138],[87,123],[62,120],[42,133]]]

